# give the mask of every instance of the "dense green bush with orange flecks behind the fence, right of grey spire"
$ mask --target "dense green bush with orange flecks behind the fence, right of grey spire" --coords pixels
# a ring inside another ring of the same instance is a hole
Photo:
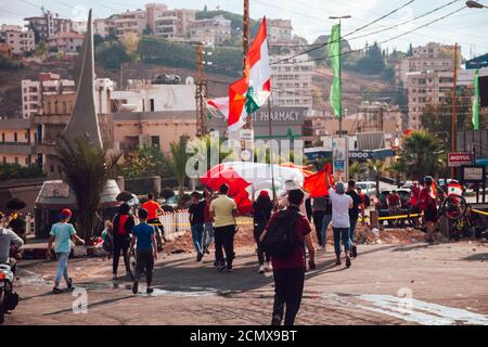
[[[141,147],[126,153],[124,164],[119,166],[119,174],[126,178],[170,176],[164,155],[156,146]]]

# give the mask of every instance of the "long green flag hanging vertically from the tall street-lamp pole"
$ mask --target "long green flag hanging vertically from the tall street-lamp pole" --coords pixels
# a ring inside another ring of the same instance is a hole
[[[328,54],[331,60],[332,87],[331,87],[331,107],[337,119],[343,118],[343,82],[341,79],[341,24],[332,27],[329,38]]]

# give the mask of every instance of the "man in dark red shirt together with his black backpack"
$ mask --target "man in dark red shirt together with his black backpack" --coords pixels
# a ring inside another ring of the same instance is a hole
[[[274,278],[274,305],[272,325],[293,325],[300,308],[305,283],[305,247],[308,248],[309,267],[316,268],[314,248],[310,237],[310,223],[300,214],[304,192],[292,189],[287,193],[288,206],[271,216],[260,236],[265,252],[271,255]],[[286,313],[284,313],[286,307]]]

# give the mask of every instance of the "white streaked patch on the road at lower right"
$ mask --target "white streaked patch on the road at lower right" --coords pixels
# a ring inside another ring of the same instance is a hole
[[[322,299],[326,304],[343,305],[371,312],[383,313],[408,322],[422,325],[488,325],[488,317],[460,308],[431,304],[411,299],[411,309],[401,308],[404,298],[393,295],[337,295],[325,294]]]

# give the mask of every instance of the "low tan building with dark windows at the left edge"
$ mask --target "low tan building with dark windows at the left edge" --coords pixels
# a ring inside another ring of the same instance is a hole
[[[29,166],[36,162],[30,119],[0,119],[0,163]]]

